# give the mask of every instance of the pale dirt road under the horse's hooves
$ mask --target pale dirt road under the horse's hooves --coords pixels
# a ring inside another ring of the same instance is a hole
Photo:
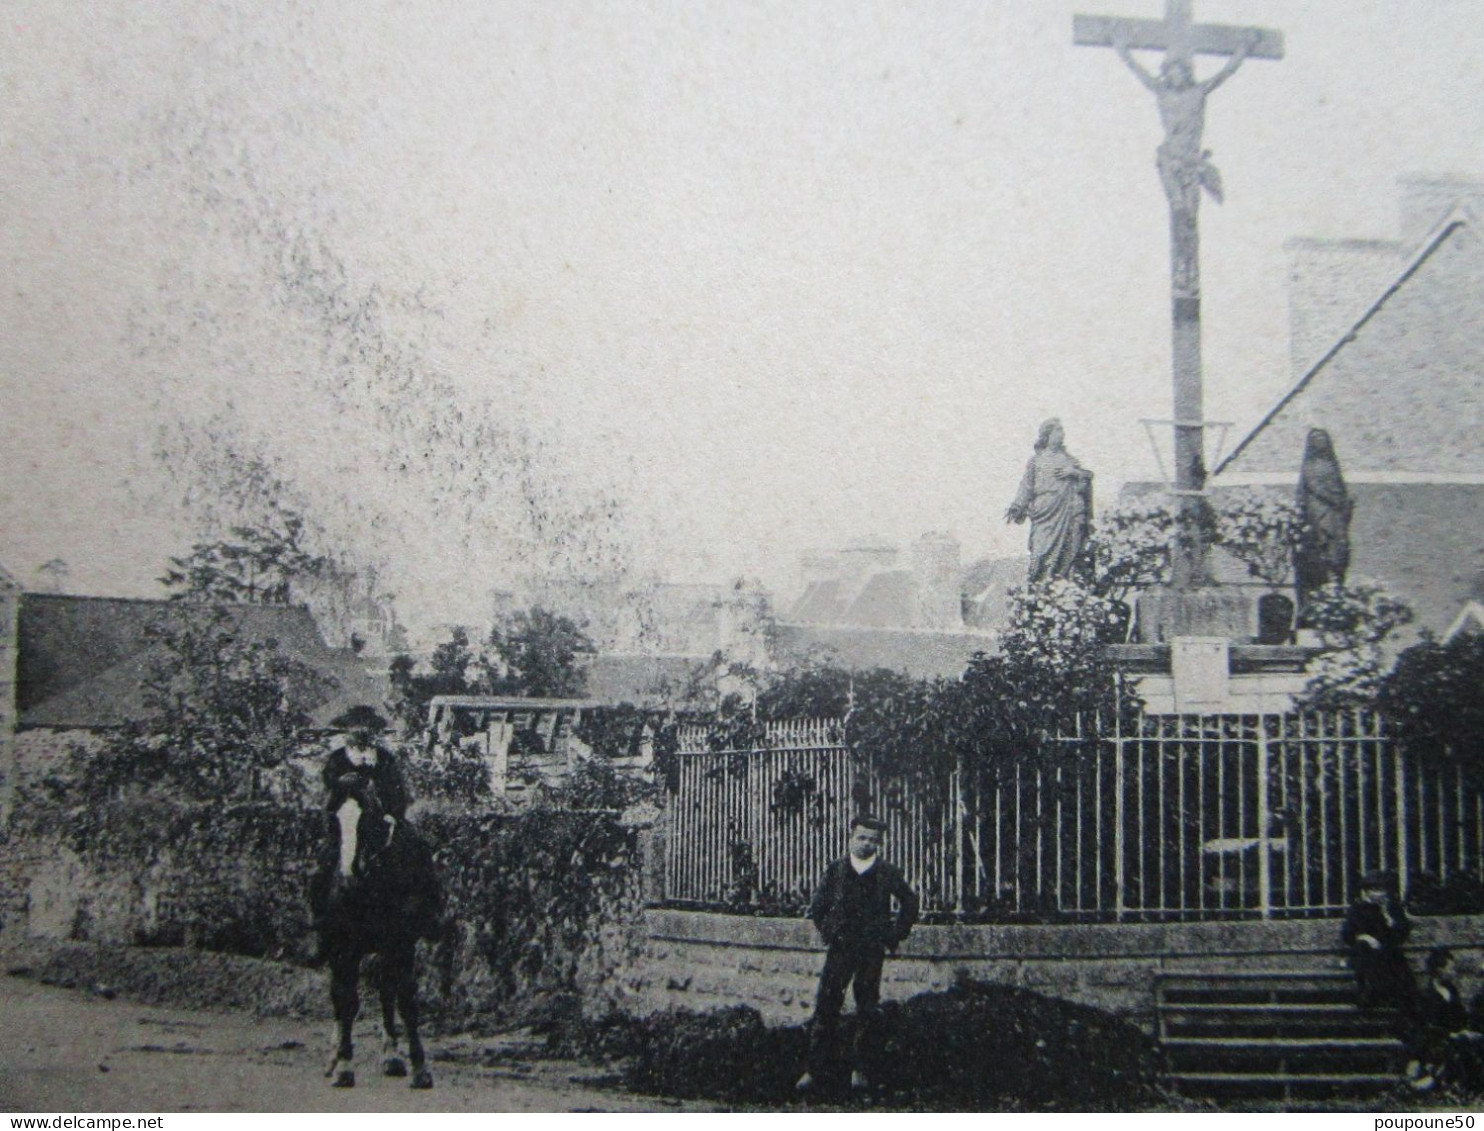
[[[663,1112],[680,1103],[583,1081],[597,1070],[522,1060],[506,1037],[433,1037],[436,1085],[377,1072],[380,1033],[362,1021],[353,1089],[324,1078],[324,1024],[108,1000],[0,977],[0,1110],[119,1112]],[[574,1081],[573,1078],[579,1079]],[[700,1104],[684,1104],[696,1110]]]

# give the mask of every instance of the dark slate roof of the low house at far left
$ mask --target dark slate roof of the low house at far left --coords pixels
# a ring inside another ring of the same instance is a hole
[[[148,714],[144,678],[163,647],[147,632],[174,617],[223,609],[240,638],[275,641],[335,689],[313,715],[326,723],[355,704],[381,705],[389,687],[349,649],[331,649],[298,606],[209,606],[64,594],[21,594],[16,647],[18,726],[96,729]]]

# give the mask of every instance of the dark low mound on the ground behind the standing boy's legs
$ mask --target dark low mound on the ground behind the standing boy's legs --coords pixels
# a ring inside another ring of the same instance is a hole
[[[965,981],[881,1008],[876,1098],[929,1110],[1137,1109],[1156,1100],[1153,1042],[1091,1006]],[[843,1040],[849,1040],[849,1020]],[[568,1051],[583,1051],[562,1042]],[[623,1057],[634,1091],[727,1103],[797,1100],[807,1029],[769,1029],[757,1011],[672,1011],[585,1030],[589,1054]],[[844,1066],[821,1081],[838,1098]]]

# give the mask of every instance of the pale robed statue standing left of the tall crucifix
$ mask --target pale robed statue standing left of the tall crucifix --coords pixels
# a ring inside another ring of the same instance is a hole
[[[1092,521],[1092,472],[1066,448],[1061,422],[1048,420],[1036,436],[1015,502],[1005,521],[1030,519],[1030,573],[1034,582],[1070,577]]]

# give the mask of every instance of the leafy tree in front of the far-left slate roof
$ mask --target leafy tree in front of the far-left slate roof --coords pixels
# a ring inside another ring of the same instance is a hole
[[[89,800],[168,791],[196,801],[251,800],[289,772],[310,711],[332,680],[273,638],[246,640],[224,609],[162,617],[144,674],[145,714],[77,751],[71,784]]]

